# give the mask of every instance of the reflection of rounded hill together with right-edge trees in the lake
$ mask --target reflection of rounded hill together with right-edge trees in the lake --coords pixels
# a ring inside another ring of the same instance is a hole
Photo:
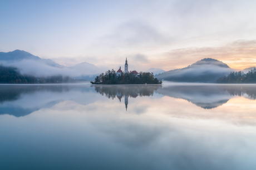
[[[221,106],[234,96],[256,99],[255,85],[170,85],[157,92],[177,99],[185,99],[204,109]]]

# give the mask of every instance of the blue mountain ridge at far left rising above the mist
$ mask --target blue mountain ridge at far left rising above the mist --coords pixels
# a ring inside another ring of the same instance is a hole
[[[40,61],[40,63],[44,63],[54,67],[63,68],[65,66],[55,63],[50,59],[41,59],[38,56],[32,55],[23,50],[14,50],[8,53],[0,52],[0,61],[6,61],[7,63],[13,63],[21,60],[35,60]]]

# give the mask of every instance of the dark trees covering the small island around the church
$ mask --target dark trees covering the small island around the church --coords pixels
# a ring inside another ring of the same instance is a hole
[[[95,81],[91,84],[162,84],[157,78],[154,78],[153,73],[142,73],[139,75],[121,72],[121,75],[116,75],[114,69],[106,71],[96,76]]]

